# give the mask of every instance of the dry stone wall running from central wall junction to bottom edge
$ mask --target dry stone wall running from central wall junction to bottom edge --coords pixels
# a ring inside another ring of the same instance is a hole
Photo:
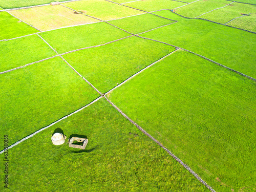
[[[185,163],[183,163],[177,156],[175,156],[172,152],[170,152],[165,146],[163,146],[162,143],[160,143],[158,140],[156,140],[154,137],[152,137],[150,134],[148,134],[144,129],[142,129],[141,126],[139,126],[136,122],[134,122],[131,118],[129,118],[127,115],[125,115],[113,102],[111,102],[108,98],[104,96],[104,98],[120,113],[122,116],[124,116],[127,120],[129,120],[132,124],[134,124],[143,134],[145,134],[147,137],[151,138],[153,141],[155,141],[161,148],[163,148],[164,151],[166,151],[170,156],[172,156],[178,163],[180,163],[185,169],[187,169],[194,177],[196,177],[204,186],[206,186],[210,191],[215,192],[213,188],[211,188],[201,177],[199,177],[189,166],[187,166]]]

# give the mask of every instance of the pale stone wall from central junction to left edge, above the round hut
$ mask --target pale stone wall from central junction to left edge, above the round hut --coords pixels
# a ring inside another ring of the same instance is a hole
[[[81,111],[81,110],[87,108],[88,106],[90,106],[91,104],[95,103],[96,101],[98,101],[98,100],[101,99],[101,98],[102,98],[102,96],[99,96],[98,98],[96,98],[95,100],[93,100],[93,101],[90,102],[89,104],[83,106],[82,108],[80,108],[80,109],[78,109],[78,110],[76,110],[76,111],[70,113],[69,115],[66,115],[66,116],[60,118],[60,119],[57,120],[57,121],[54,121],[53,123],[49,124],[48,126],[42,127],[40,130],[38,130],[38,131],[32,133],[31,135],[29,135],[29,136],[27,136],[27,137],[24,137],[23,139],[21,139],[21,140],[15,142],[15,143],[13,143],[12,145],[8,146],[5,150],[9,150],[10,148],[12,148],[12,147],[18,145],[19,143],[22,143],[23,141],[26,141],[27,139],[33,137],[34,135],[40,133],[41,131],[44,131],[44,130],[48,129],[49,127],[51,127],[51,126],[53,126],[54,124],[56,124],[56,123],[62,121],[63,119],[66,119],[66,118],[68,118],[68,117],[70,117],[70,116],[72,116],[72,115],[78,113],[79,111]],[[0,151],[0,154],[4,153],[5,150]]]

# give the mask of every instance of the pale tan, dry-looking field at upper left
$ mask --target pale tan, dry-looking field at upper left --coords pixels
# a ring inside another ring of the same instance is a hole
[[[98,22],[97,19],[76,14],[61,5],[15,10],[11,13],[41,31]]]

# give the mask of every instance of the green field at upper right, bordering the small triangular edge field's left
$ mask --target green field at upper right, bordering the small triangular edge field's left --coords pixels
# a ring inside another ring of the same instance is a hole
[[[248,13],[256,13],[256,6],[241,4],[241,3],[233,3],[227,7],[222,9],[218,9],[209,13],[206,13],[199,18],[205,18],[208,20],[212,20],[214,22],[225,24],[229,22],[229,20],[242,16],[242,14]],[[240,28],[244,28],[245,26],[241,26]]]

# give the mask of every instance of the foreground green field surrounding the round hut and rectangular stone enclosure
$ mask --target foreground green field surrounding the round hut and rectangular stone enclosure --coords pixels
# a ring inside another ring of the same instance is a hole
[[[61,131],[66,142],[53,145]],[[73,136],[88,138],[84,151],[69,147]],[[15,163],[7,191],[208,191],[103,98],[15,146],[8,158]]]

